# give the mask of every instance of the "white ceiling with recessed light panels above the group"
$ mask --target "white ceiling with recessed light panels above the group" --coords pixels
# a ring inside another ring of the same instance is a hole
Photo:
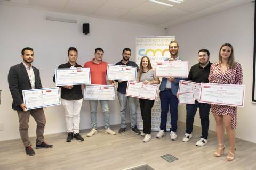
[[[207,15],[250,3],[252,0],[184,0],[173,7],[147,0],[0,0],[5,4],[22,4],[65,13],[98,18],[172,27]]]

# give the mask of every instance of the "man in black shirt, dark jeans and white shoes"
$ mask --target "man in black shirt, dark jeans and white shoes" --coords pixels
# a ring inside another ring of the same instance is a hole
[[[208,83],[208,77],[212,63],[209,61],[210,53],[207,49],[200,49],[198,52],[198,62],[193,65],[189,71],[188,81],[196,83]],[[208,129],[209,129],[209,111],[210,105],[206,103],[187,104],[187,118],[186,118],[186,133],[182,139],[183,142],[188,142],[192,137],[194,117],[196,110],[199,107],[199,114],[201,119],[202,135],[201,139],[196,142],[197,146],[204,146],[207,143]]]

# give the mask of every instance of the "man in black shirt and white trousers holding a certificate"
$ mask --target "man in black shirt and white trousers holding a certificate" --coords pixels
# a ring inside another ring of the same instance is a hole
[[[68,63],[59,65],[59,69],[82,68],[76,63],[77,49],[70,47],[68,49]],[[55,75],[53,77],[55,82]],[[71,142],[73,138],[83,141],[84,138],[79,134],[80,110],[83,103],[83,94],[81,85],[61,86],[61,103],[65,109],[66,125],[67,125],[67,142]]]

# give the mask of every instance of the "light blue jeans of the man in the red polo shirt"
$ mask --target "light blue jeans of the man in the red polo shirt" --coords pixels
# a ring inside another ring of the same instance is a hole
[[[101,110],[104,115],[104,123],[105,128],[109,127],[109,107],[108,107],[108,100],[99,100],[101,105]],[[98,107],[98,100],[89,100],[90,111],[91,111],[91,125],[92,128],[97,128],[97,107]]]

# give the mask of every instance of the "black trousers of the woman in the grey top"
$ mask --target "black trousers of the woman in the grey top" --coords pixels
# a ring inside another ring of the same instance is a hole
[[[143,120],[143,133],[151,133],[151,109],[155,103],[154,100],[139,99],[140,112]]]

